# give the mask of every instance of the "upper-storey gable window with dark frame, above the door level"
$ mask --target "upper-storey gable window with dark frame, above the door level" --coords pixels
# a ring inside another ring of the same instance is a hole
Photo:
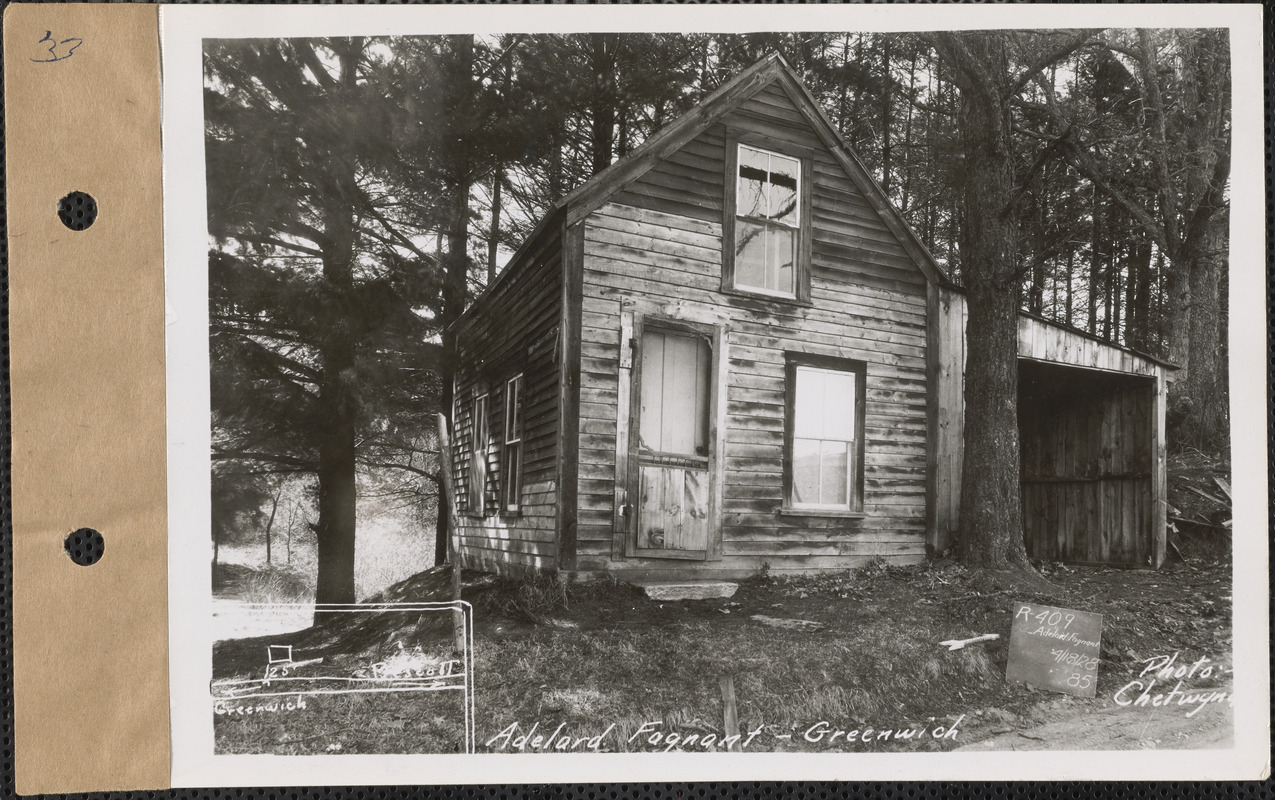
[[[805,300],[810,209],[802,159],[743,143],[734,156],[724,288]]]

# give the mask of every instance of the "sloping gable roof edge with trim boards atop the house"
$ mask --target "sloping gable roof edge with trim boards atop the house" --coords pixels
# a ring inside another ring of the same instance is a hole
[[[652,134],[627,156],[558,199],[536,227],[532,228],[532,232],[523,241],[521,246],[510,258],[505,270],[501,272],[496,281],[487,287],[469,309],[465,309],[465,313],[462,314],[456,323],[459,324],[463,319],[468,318],[469,311],[476,309],[493,288],[504,283],[506,276],[518,272],[516,267],[534,249],[533,242],[539,240],[551,226],[571,226],[584,219],[604,205],[616,193],[650,171],[663,158],[688,144],[692,139],[711,128],[713,124],[738,107],[740,103],[771,83],[778,83],[784,89],[788,100],[792,101],[806,119],[838,165],[854,181],[859,191],[863,193],[868,204],[881,217],[895,239],[899,240],[899,244],[917,264],[926,279],[935,285],[950,285],[950,281],[943,274],[942,268],[935,260],[933,255],[929,254],[929,250],[917,237],[912,226],[908,225],[903,214],[899,213],[899,209],[890,202],[881,185],[872,177],[872,174],[868,172],[863,162],[859,161],[858,156],[854,154],[840,133],[838,133],[836,128],[827,119],[827,115],[824,114],[824,110],[810,93],[810,89],[806,88],[806,84],[802,83],[801,78],[797,77],[797,73],[782,55],[773,52],[723,83],[694,108]]]

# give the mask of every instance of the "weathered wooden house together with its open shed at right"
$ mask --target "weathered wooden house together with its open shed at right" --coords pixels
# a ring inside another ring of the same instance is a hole
[[[465,565],[914,563],[956,526],[964,297],[779,56],[565,196],[456,323]],[[1029,552],[1159,564],[1167,365],[1024,315]]]

